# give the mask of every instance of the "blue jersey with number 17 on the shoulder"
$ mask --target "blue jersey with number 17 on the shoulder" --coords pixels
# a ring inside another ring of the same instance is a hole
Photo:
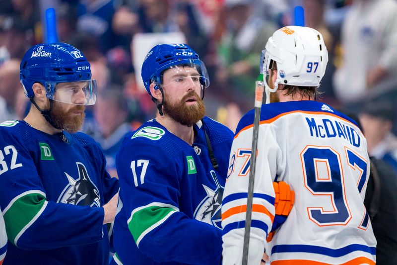
[[[192,146],[156,120],[128,135],[120,179],[113,263],[219,265],[221,200],[233,133],[204,117]],[[204,128],[219,167],[208,155]]]

